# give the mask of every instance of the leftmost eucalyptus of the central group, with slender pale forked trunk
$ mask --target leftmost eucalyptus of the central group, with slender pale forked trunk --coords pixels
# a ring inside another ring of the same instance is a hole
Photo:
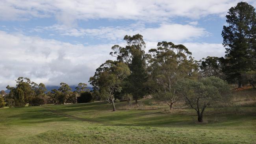
[[[115,92],[121,92],[123,79],[130,75],[130,70],[125,63],[108,60],[96,69],[95,75],[89,82],[100,96],[112,103],[115,111]]]

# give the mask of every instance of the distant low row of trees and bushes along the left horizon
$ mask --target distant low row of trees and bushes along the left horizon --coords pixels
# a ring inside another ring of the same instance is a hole
[[[86,103],[91,102],[92,94],[87,89],[87,84],[79,83],[76,90],[72,89],[66,83],[60,83],[59,89],[46,90],[43,83],[35,83],[29,78],[19,77],[16,80],[16,87],[6,87],[10,90],[9,94],[0,96],[0,107],[7,105],[9,107],[24,107],[27,103],[30,106],[43,104],[64,104],[64,103]]]

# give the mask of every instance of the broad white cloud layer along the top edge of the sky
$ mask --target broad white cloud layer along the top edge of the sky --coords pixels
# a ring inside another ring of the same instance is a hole
[[[253,0],[247,0],[254,6]],[[172,17],[224,16],[238,0],[1,0],[2,20],[56,17],[66,25],[87,19],[164,21]]]

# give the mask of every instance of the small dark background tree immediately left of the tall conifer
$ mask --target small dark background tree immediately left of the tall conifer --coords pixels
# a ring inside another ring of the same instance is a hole
[[[202,77],[216,76],[223,79],[222,64],[219,57],[206,57],[198,61]]]

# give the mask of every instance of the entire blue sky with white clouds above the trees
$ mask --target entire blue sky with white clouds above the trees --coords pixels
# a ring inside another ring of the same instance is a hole
[[[0,0],[0,90],[18,77],[87,83],[124,35],[183,44],[195,59],[224,56],[221,31],[237,0]],[[247,0],[256,7],[256,1]]]

